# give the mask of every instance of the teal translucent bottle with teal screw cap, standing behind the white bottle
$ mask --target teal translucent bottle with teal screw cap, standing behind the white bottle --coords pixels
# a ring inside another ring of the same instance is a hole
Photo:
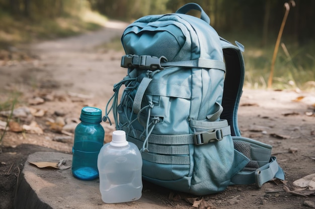
[[[82,180],[92,180],[99,176],[97,158],[104,144],[105,131],[100,124],[102,110],[84,107],[80,120],[74,130],[72,174]]]

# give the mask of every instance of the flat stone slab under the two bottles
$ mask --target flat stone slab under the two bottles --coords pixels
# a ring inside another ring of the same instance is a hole
[[[142,192],[140,199],[132,202],[107,204],[102,201],[99,179],[83,181],[73,177],[71,168],[38,168],[28,163],[40,161],[58,162],[66,159],[65,165],[71,165],[72,155],[58,152],[35,152],[29,155],[19,176],[15,208],[168,208],[161,200],[148,198]]]

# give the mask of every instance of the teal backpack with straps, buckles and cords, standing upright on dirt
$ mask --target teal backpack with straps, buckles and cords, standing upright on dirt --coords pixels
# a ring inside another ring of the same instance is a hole
[[[201,18],[186,15],[190,10]],[[190,3],[129,25],[121,38],[127,76],[114,85],[103,120],[113,111],[116,129],[141,151],[143,179],[155,184],[205,195],[283,180],[272,147],[242,137],[238,127],[244,47],[209,24]]]

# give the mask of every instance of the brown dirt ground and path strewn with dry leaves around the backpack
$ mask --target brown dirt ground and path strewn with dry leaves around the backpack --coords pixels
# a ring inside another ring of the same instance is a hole
[[[110,22],[98,32],[12,48],[10,59],[0,60],[0,101],[21,92],[16,108],[22,111],[2,141],[0,209],[13,208],[17,176],[30,153],[70,153],[81,108],[90,105],[105,111],[113,85],[126,69],[120,67],[123,52],[97,46],[120,37],[125,27]],[[143,193],[148,199],[161,199],[166,208],[196,208],[190,198],[200,202],[199,208],[315,208],[314,191],[304,190],[305,196],[283,189],[293,190],[295,180],[315,173],[314,104],[314,92],[244,89],[239,108],[242,135],[273,146],[285,181],[270,181],[260,189],[235,185],[203,197],[144,182]],[[5,113],[0,120],[6,121]],[[102,125],[108,142],[114,127]]]

